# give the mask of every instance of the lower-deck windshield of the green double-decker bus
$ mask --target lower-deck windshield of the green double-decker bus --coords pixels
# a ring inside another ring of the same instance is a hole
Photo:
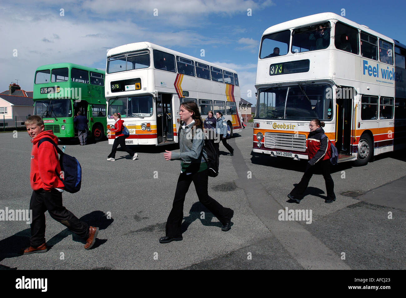
[[[71,117],[72,102],[70,99],[37,100],[34,106],[34,115],[46,117]]]

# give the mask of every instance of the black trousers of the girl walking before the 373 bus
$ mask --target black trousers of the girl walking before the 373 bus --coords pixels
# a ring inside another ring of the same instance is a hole
[[[324,181],[326,182],[326,190],[327,190],[327,200],[335,199],[334,194],[334,181],[330,175],[330,160],[320,160],[314,166],[311,166],[307,163],[306,169],[304,170],[304,174],[302,180],[300,180],[299,184],[295,186],[295,188],[290,192],[296,199],[302,199],[303,193],[306,190],[307,186],[309,185],[309,181],[313,173],[317,170],[321,170],[322,175],[324,177]]]

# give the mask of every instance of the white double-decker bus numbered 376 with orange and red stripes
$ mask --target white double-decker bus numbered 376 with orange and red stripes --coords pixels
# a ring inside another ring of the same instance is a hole
[[[130,43],[107,52],[107,127],[121,113],[132,145],[177,143],[179,106],[195,101],[201,116],[220,111],[229,135],[241,129],[240,87],[235,71],[148,42]],[[114,134],[108,136],[109,144]]]

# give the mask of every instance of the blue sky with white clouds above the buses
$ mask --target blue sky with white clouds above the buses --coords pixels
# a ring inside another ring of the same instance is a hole
[[[0,92],[15,79],[22,89],[32,91],[40,65],[71,62],[105,69],[108,49],[151,41],[235,69],[241,97],[254,103],[263,31],[315,13],[341,14],[342,9],[346,18],[406,44],[406,2],[400,0],[2,1]]]

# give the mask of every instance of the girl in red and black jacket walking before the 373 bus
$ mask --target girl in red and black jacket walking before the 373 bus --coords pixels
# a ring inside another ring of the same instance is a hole
[[[310,121],[310,133],[309,136],[307,136],[309,162],[304,170],[302,180],[300,180],[299,184],[287,195],[291,201],[296,203],[300,203],[300,200],[303,199],[303,193],[309,185],[310,178],[316,169],[321,170],[324,181],[326,181],[327,199],[324,203],[332,203],[335,201],[334,182],[330,175],[330,142],[324,135],[322,127],[324,127],[324,122],[320,122],[319,119]]]

